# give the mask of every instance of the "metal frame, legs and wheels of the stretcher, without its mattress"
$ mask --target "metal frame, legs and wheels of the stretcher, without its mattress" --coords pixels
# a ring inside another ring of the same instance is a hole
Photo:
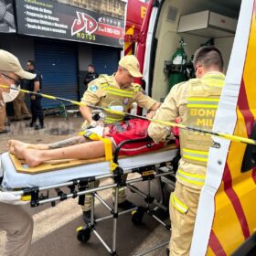
[[[142,141],[148,141],[148,138],[145,139],[135,139],[135,140],[129,140],[125,141],[121,144],[119,144],[115,150],[113,163],[117,165],[115,170],[107,175],[101,175],[101,176],[89,176],[89,177],[83,177],[83,178],[76,178],[69,182],[59,183],[57,185],[52,186],[46,186],[46,187],[28,187],[19,191],[16,191],[16,195],[20,195],[22,197],[29,197],[30,200],[30,206],[32,208],[44,205],[46,203],[51,203],[52,207],[55,206],[57,201],[63,201],[68,198],[76,198],[80,197],[80,200],[84,200],[84,196],[87,194],[91,194],[91,223],[86,224],[84,227],[80,227],[78,231],[78,240],[82,242],[86,242],[90,240],[91,233],[93,233],[100,241],[103,247],[110,253],[110,255],[117,255],[116,252],[116,230],[117,230],[117,219],[119,216],[135,212],[139,214],[139,221],[142,220],[141,215],[146,212],[149,216],[153,217],[158,223],[163,225],[165,229],[171,230],[171,227],[168,224],[165,224],[165,222],[161,219],[159,219],[155,215],[155,211],[159,208],[162,208],[164,211],[167,211],[168,208],[164,205],[164,193],[163,193],[163,182],[168,183],[171,185],[171,187],[174,187],[175,185],[175,171],[172,168],[172,163],[165,162],[161,164],[155,164],[155,165],[143,165],[140,167],[132,168],[131,170],[123,171],[123,169],[118,165],[118,157],[120,149],[124,144],[131,144],[135,142],[142,142]],[[174,149],[175,150],[175,149]],[[141,177],[133,178],[130,180],[123,180],[123,175],[128,175],[131,173],[138,173],[141,175]],[[172,177],[173,181],[168,181],[166,178],[167,176]],[[111,177],[114,180],[113,184],[100,186],[100,187],[94,187],[91,189],[88,189],[88,184],[90,182],[101,180],[104,178]],[[158,201],[155,197],[151,195],[151,182],[154,179],[157,179],[157,184],[159,187],[159,190],[161,192],[160,194],[160,200]],[[147,194],[145,194],[143,191],[138,189],[137,187],[134,187],[134,184],[138,182],[147,182]],[[60,188],[68,187],[69,193],[64,193]],[[141,207],[135,207],[128,210],[118,211],[118,189],[119,187],[128,187],[133,193],[138,194],[141,197],[144,197],[144,201],[146,203],[145,208]],[[113,207],[111,207],[103,198],[101,198],[98,195],[98,191],[115,188],[115,196],[113,201]],[[48,198],[48,190],[49,189],[55,189],[57,192],[57,197],[50,197]],[[47,195],[40,195],[41,192],[47,192]],[[103,206],[105,206],[107,209],[110,210],[110,215],[94,219],[94,211],[95,211],[95,198],[97,198]],[[155,205],[155,208],[151,208],[152,205]],[[143,216],[143,215],[142,215]],[[101,235],[95,228],[95,224],[105,220],[105,219],[113,219],[113,226],[112,226],[112,248],[101,238]],[[134,222],[134,221],[133,221]],[[135,221],[136,222],[136,221]],[[134,223],[135,223],[134,222]],[[83,239],[81,239],[83,238]],[[168,241],[165,241],[161,245],[156,245],[155,247],[141,252],[138,255],[145,255],[151,251],[158,250],[159,248],[165,246],[168,243]]]

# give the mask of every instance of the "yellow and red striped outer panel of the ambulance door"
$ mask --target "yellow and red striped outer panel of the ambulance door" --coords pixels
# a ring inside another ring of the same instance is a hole
[[[256,119],[256,1],[254,1],[251,32],[246,61],[240,81],[237,103],[238,120],[235,135],[249,137]],[[241,173],[246,145],[232,142],[215,197],[215,216],[207,255],[230,255],[256,229],[256,168]]]

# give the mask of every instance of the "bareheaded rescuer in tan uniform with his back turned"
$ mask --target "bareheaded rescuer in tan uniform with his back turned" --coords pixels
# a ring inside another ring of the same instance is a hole
[[[176,84],[157,110],[155,119],[174,122],[181,117],[182,124],[211,130],[219,96],[224,85],[223,59],[213,46],[197,49],[194,57],[197,79]],[[155,142],[165,140],[164,126],[151,123],[148,134]],[[170,197],[172,234],[170,255],[189,255],[197,204],[205,182],[210,135],[180,129],[181,159],[176,173],[176,189]]]

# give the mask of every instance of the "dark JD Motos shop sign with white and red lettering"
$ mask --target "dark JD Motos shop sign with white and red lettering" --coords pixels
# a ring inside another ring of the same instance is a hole
[[[123,19],[48,0],[16,1],[17,33],[123,48]]]

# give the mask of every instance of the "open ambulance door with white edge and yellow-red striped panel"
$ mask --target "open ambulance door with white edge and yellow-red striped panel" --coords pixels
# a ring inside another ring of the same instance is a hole
[[[245,0],[213,131],[256,139],[255,59],[256,1]],[[253,242],[244,241],[254,238],[255,246],[255,146],[213,140],[220,147],[209,151],[190,255],[249,255]]]

